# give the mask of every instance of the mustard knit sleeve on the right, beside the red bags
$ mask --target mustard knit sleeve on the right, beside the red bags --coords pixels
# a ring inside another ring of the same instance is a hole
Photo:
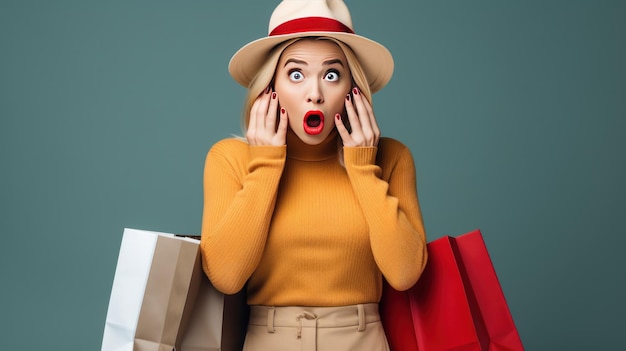
[[[345,147],[344,162],[369,226],[376,264],[392,287],[406,290],[427,260],[415,165],[409,149],[395,140],[383,139],[379,148]]]

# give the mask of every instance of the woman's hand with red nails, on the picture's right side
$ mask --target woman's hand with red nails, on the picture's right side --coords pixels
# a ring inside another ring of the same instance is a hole
[[[378,146],[380,129],[372,105],[361,95],[358,88],[352,89],[352,97],[350,94],[346,96],[345,105],[352,132],[348,132],[341,117],[337,118],[339,115],[335,116],[335,125],[343,140],[343,146]]]

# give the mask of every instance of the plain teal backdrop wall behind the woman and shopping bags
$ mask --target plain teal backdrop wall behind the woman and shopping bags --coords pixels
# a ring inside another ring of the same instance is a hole
[[[98,350],[124,227],[198,233],[276,1],[0,1],[0,340]],[[528,350],[623,349],[626,2],[348,1],[429,239],[480,228]]]

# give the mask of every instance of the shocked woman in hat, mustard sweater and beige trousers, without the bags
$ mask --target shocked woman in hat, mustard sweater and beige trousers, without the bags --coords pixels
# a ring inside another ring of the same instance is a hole
[[[406,290],[427,257],[413,158],[371,105],[391,55],[342,1],[284,0],[229,71],[246,140],[208,153],[201,249],[218,290],[247,289],[244,350],[388,350],[383,277]]]

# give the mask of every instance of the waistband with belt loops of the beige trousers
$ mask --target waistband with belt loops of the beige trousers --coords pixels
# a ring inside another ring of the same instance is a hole
[[[302,326],[303,320],[315,320],[317,328],[359,326],[380,321],[377,303],[340,307],[250,306],[250,325],[274,327]]]

